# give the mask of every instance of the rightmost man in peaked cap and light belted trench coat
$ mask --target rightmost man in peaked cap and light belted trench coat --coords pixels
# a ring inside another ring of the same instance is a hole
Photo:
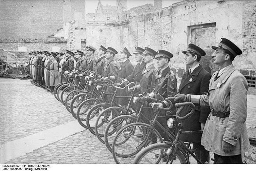
[[[245,124],[248,83],[232,65],[242,51],[226,38],[212,48],[215,49],[213,63],[220,68],[210,79],[208,94],[177,94],[175,101],[210,106],[201,144],[214,153],[215,163],[243,163],[244,153],[250,146]]]

